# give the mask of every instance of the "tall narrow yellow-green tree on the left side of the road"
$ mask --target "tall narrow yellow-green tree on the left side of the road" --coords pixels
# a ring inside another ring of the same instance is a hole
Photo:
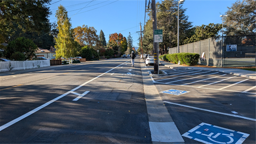
[[[58,7],[55,17],[57,17],[58,19],[57,28],[59,30],[58,37],[55,38],[55,48],[57,49],[55,51],[55,57],[56,59],[61,57],[74,57],[76,55],[75,40],[73,38],[74,30],[71,29],[71,23],[69,22],[70,19],[68,18],[68,12],[66,11],[64,6],[60,5]]]

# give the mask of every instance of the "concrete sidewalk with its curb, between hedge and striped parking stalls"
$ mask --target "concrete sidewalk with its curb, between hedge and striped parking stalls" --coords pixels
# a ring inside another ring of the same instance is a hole
[[[236,76],[242,76],[247,78],[256,79],[256,71],[243,70],[243,69],[235,69],[235,68],[206,68],[206,67],[189,67],[189,66],[181,66],[175,63],[170,63],[166,61],[160,61],[162,66],[173,68],[173,69],[195,69],[195,70],[211,70],[211,71],[220,71],[222,73],[232,74]]]

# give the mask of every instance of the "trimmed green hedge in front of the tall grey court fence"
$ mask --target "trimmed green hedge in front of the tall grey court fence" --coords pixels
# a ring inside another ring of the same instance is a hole
[[[173,53],[164,54],[159,56],[159,59],[164,61],[169,61],[172,63],[178,63],[180,61],[181,65],[195,66],[198,63],[200,55],[198,53]]]

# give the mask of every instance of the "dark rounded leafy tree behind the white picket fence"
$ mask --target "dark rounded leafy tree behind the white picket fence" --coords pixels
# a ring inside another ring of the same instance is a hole
[[[10,59],[15,52],[20,52],[25,56],[24,60],[27,60],[27,59],[30,59],[31,57],[36,56],[35,54],[36,50],[37,50],[37,46],[33,41],[25,37],[19,37],[14,41],[10,42],[6,46],[4,50],[4,55],[5,55],[5,58]],[[19,54],[15,54],[15,55],[19,55]]]

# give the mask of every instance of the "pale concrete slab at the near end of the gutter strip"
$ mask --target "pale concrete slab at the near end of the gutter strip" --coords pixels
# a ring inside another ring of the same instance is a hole
[[[152,141],[184,142],[174,122],[149,122]]]

